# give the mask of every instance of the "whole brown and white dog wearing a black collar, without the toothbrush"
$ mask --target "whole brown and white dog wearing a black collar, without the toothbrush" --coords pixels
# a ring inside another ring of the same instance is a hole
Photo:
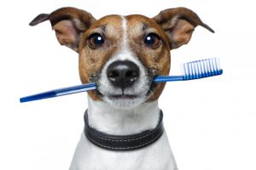
[[[45,20],[58,42],[79,54],[81,82],[97,87],[88,92],[70,170],[177,170],[158,107],[165,83],[152,80],[169,74],[170,51],[187,44],[196,26],[212,28],[189,8],[99,20],[79,8],[59,8],[30,26]]]

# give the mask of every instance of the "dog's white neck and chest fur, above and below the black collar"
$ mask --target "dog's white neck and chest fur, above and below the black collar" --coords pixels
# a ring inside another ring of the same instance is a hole
[[[157,101],[129,110],[116,110],[89,97],[89,123],[110,134],[139,133],[154,128],[159,120]],[[154,144],[140,150],[111,151],[91,144],[84,133],[73,156],[70,170],[177,170],[166,132]]]

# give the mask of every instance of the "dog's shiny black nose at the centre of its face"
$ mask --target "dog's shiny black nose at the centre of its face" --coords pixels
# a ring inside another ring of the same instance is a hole
[[[108,65],[107,77],[115,87],[127,88],[137,81],[139,68],[129,60],[115,61]]]

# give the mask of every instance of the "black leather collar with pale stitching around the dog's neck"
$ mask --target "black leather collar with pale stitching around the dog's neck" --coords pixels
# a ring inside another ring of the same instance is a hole
[[[160,120],[158,125],[151,130],[143,131],[131,135],[112,135],[102,133],[89,126],[88,112],[84,113],[84,134],[91,143],[106,149],[106,150],[138,150],[143,147],[153,144],[164,132],[163,113],[160,111]]]

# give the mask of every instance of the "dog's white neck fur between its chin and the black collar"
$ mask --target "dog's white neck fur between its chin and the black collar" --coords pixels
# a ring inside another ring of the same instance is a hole
[[[116,109],[106,102],[88,98],[89,125],[104,133],[125,135],[156,127],[158,102],[143,103],[131,109]]]

